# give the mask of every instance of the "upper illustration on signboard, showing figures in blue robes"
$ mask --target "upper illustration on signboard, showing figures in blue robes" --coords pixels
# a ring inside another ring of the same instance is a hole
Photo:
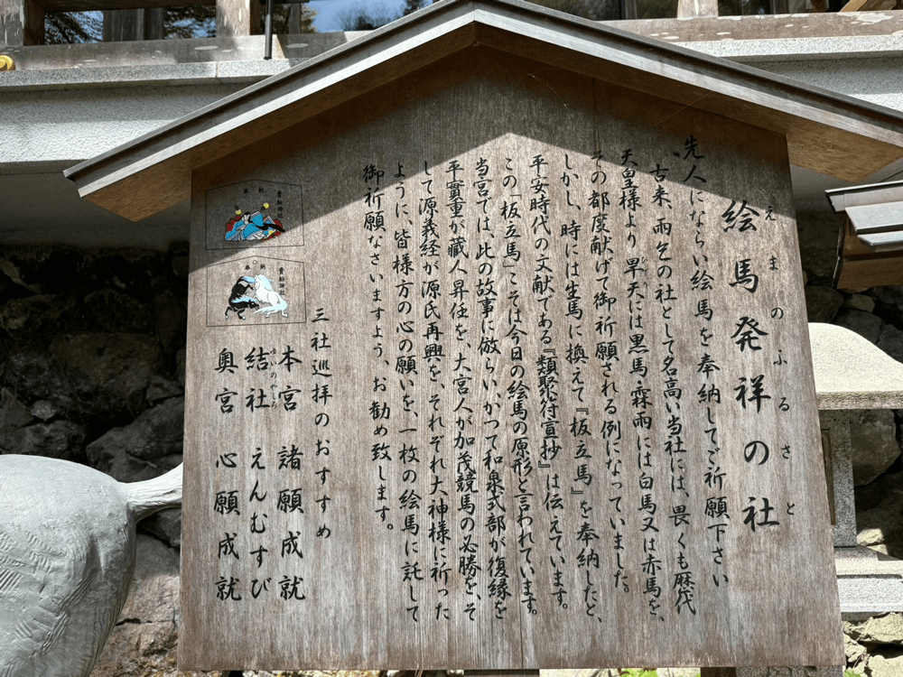
[[[207,248],[304,244],[301,186],[242,181],[207,191]]]

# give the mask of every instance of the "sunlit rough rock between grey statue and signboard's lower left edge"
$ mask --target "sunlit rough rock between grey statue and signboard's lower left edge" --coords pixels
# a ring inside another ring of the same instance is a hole
[[[135,579],[92,677],[176,677],[179,555],[138,534]]]

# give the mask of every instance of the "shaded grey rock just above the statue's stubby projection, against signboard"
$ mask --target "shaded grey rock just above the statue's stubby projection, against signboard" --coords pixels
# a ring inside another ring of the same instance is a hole
[[[88,462],[120,482],[154,478],[181,462],[185,398],[173,397],[88,444]]]

